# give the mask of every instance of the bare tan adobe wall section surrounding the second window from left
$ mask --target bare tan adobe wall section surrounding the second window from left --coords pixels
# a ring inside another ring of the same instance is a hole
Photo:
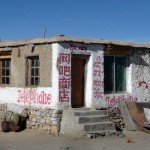
[[[25,87],[26,58],[39,56],[40,59],[40,87],[52,86],[52,46],[26,45],[12,48],[11,56],[11,87]]]

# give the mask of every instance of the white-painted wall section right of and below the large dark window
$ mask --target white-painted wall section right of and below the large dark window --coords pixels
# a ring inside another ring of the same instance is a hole
[[[135,50],[127,56],[126,93],[106,94],[109,107],[117,107],[119,101],[150,102],[150,51]]]

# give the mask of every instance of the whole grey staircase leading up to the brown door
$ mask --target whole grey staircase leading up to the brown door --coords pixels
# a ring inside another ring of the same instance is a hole
[[[116,133],[115,124],[110,122],[104,110],[76,108],[63,111],[61,135],[81,137],[113,133]]]

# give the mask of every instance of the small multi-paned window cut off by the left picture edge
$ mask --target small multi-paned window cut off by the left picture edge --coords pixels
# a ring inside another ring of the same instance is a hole
[[[1,60],[1,84],[10,84],[10,59]]]

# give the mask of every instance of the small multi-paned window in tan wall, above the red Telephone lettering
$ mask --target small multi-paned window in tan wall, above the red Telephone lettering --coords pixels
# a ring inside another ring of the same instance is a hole
[[[28,58],[28,85],[37,86],[40,83],[39,57]]]

